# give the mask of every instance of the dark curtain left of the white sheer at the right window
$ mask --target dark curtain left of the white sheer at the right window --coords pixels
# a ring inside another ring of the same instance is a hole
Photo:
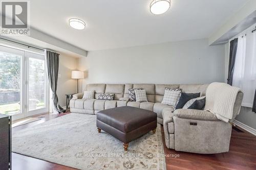
[[[233,82],[234,61],[236,60],[237,48],[238,48],[238,38],[230,41],[227,84],[231,86]]]

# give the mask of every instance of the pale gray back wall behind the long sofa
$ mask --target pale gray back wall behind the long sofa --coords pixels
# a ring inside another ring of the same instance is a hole
[[[224,45],[207,39],[90,51],[79,59],[88,83],[210,83],[224,81]]]

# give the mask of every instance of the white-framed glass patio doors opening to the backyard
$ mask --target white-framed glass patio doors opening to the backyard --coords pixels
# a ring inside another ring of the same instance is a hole
[[[0,45],[0,113],[24,118],[49,111],[44,55]]]

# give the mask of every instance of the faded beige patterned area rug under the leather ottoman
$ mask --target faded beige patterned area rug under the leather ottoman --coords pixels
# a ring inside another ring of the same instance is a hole
[[[96,128],[96,115],[70,113],[13,132],[12,152],[77,169],[166,169],[160,125],[129,143]]]

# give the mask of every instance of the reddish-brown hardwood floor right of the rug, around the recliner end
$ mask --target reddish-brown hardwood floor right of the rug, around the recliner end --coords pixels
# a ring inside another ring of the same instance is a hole
[[[165,158],[167,169],[256,169],[256,136],[243,132],[242,129],[239,129],[241,132],[235,129],[232,129],[227,153],[193,154],[164,147],[165,154],[179,154],[180,156]],[[161,130],[164,136],[163,127]]]

